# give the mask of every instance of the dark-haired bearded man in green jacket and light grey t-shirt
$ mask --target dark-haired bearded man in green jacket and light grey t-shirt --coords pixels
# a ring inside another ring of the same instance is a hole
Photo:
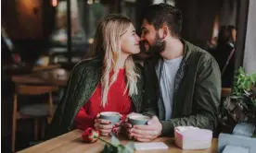
[[[144,107],[153,117],[147,125],[125,124],[130,138],[173,136],[176,126],[214,131],[221,97],[221,74],[214,58],[180,38],[182,15],[173,6],[148,6],[141,28],[141,46],[152,55],[144,63]]]

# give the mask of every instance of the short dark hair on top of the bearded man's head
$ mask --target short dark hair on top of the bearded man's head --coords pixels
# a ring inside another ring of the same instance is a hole
[[[180,37],[182,29],[182,14],[181,12],[170,5],[159,4],[147,6],[143,13],[142,19],[147,19],[149,24],[152,24],[155,29],[160,29],[163,24],[167,24],[171,29],[171,34]]]

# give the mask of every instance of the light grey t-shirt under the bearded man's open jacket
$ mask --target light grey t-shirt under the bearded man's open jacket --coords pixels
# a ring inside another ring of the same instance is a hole
[[[163,61],[160,61],[159,67],[156,69],[160,80],[160,96],[165,108],[165,120],[170,120],[172,117],[174,79],[182,59],[183,56],[172,60],[163,59]],[[161,62],[163,63],[162,68],[160,68]]]

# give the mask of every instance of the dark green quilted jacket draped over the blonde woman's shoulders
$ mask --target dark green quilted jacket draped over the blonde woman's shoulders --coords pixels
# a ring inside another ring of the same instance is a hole
[[[140,75],[137,81],[138,94],[131,98],[134,112],[142,112],[144,76],[141,66],[136,65],[136,69]],[[73,129],[74,117],[96,90],[102,76],[101,73],[102,60],[99,58],[80,62],[72,69],[64,96],[58,105],[52,124],[47,130],[46,139],[68,133]]]

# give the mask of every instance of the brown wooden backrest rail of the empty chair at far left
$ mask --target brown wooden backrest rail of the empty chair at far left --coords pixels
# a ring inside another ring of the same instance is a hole
[[[15,92],[18,95],[41,95],[58,91],[56,86],[39,86],[39,85],[16,85]]]

